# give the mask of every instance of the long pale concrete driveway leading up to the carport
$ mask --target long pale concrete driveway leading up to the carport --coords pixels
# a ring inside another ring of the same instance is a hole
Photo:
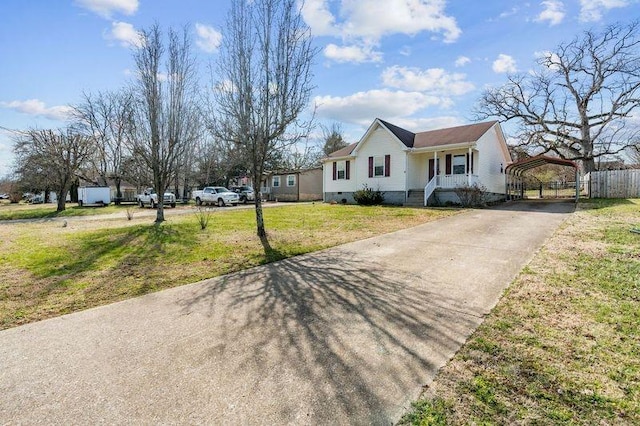
[[[512,203],[0,332],[2,424],[390,424],[573,203]]]

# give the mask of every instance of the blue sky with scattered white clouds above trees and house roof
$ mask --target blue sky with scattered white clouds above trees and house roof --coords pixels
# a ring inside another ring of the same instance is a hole
[[[136,31],[187,25],[202,66],[224,43],[229,0],[1,0],[0,176],[4,129],[57,128],[83,91],[132,77]],[[306,0],[319,54],[321,123],[357,141],[374,118],[412,131],[465,124],[482,90],[527,72],[540,53],[587,29],[640,17],[638,0]],[[508,126],[507,126],[508,133]]]

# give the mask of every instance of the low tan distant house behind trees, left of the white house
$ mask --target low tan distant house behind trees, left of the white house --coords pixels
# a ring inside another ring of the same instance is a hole
[[[269,201],[322,200],[322,168],[268,172],[260,190]]]

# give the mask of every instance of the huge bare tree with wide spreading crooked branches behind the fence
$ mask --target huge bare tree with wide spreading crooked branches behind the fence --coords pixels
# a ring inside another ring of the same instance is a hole
[[[640,106],[639,30],[638,22],[614,25],[559,45],[534,72],[485,91],[476,117],[516,120],[522,144],[594,170],[595,159],[637,140],[628,118]]]

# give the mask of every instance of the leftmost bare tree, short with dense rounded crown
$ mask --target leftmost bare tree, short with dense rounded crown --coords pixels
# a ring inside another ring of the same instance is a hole
[[[71,129],[29,130],[14,146],[17,173],[39,189],[51,189],[58,196],[57,211],[65,209],[76,174],[91,154],[94,140]]]

